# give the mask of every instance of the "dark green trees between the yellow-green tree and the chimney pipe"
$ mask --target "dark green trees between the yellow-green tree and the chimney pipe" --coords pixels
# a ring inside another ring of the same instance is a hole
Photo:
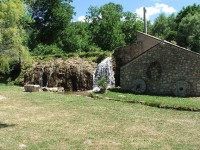
[[[121,5],[114,3],[90,7],[85,22],[72,22],[75,12],[70,2],[28,2],[32,20],[28,30],[31,51],[38,53],[46,46],[59,53],[111,51],[131,44],[136,38],[136,31],[142,29],[142,21],[134,13],[124,12]]]

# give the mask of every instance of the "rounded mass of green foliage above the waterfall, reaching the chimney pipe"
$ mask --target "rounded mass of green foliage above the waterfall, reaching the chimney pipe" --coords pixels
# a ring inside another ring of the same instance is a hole
[[[137,31],[142,31],[143,28],[143,23],[136,14],[124,12],[123,7],[115,3],[90,7],[86,21],[89,24],[91,42],[109,51],[134,43]]]

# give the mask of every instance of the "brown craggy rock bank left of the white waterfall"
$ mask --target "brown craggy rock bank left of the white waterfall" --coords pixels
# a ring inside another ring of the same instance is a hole
[[[27,70],[24,83],[38,84],[41,87],[48,88],[62,87],[67,91],[91,90],[95,68],[95,63],[85,61],[79,57],[65,61],[56,59],[37,63]],[[59,88],[58,91],[64,91],[64,89]]]

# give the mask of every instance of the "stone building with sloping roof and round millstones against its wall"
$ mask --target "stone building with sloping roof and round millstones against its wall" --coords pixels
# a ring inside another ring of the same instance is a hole
[[[132,46],[137,52],[120,69],[121,88],[138,94],[200,96],[200,54],[138,34]]]

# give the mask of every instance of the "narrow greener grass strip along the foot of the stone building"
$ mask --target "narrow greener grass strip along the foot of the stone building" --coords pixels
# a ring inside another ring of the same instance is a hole
[[[128,91],[122,91],[120,89],[112,89],[110,91],[108,90],[104,94],[92,94],[92,97],[107,98],[110,100],[128,103],[140,103],[143,105],[165,109],[200,112],[200,97],[178,98],[170,96],[136,95]]]

